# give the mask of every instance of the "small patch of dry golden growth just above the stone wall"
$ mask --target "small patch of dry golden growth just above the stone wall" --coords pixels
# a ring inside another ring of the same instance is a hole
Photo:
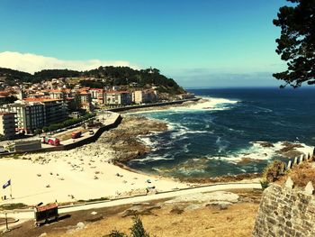
[[[277,183],[284,184],[286,179],[291,177],[296,187],[305,187],[309,181],[315,184],[315,163],[303,162],[293,167],[284,177],[280,178]]]

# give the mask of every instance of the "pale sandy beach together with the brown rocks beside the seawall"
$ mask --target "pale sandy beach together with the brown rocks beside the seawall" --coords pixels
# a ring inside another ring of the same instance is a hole
[[[1,196],[7,199],[1,205],[75,203],[188,187],[175,179],[121,168],[121,161],[138,158],[149,151],[137,136],[164,130],[164,123],[144,117],[125,117],[117,129],[103,132],[98,141],[73,150],[4,157],[0,160],[0,180],[5,183],[11,179],[11,186],[2,190]]]

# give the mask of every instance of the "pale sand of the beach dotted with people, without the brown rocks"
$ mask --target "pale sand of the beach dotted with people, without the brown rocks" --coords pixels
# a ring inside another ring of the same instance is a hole
[[[152,186],[157,190],[186,187],[170,179],[152,178],[114,166],[108,162],[112,159],[111,150],[88,147],[96,145],[24,156],[32,160],[1,159],[0,180],[4,184],[11,179],[13,202],[27,205],[145,193]],[[9,197],[10,192],[11,188],[6,187],[1,196]],[[2,201],[1,205],[7,203],[11,200]]]

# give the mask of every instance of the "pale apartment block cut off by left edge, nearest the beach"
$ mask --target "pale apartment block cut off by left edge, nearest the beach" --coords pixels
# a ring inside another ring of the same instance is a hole
[[[0,113],[0,134],[5,139],[14,138],[16,132],[15,114]]]

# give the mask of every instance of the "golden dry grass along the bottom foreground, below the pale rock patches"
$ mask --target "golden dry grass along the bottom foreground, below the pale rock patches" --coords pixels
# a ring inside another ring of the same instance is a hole
[[[183,213],[172,212],[174,206],[164,206],[140,218],[151,236],[251,236],[258,204],[240,203],[220,210],[218,207],[202,207]],[[89,223],[84,230],[72,233],[58,233],[49,236],[99,237],[113,229],[130,232],[132,217],[115,214],[97,222]]]

